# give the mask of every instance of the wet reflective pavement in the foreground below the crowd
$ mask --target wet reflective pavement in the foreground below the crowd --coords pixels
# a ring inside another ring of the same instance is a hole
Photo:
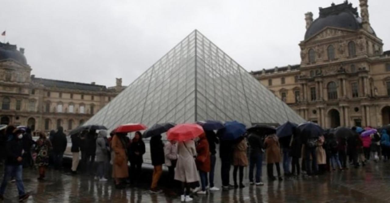
[[[3,170],[2,167],[0,169]],[[25,169],[23,172],[26,191],[31,194],[26,202],[180,202],[178,197],[150,194],[147,185],[117,190],[113,187],[112,181],[99,182],[90,176],[71,176],[67,172],[51,169],[47,172],[46,180],[38,182],[36,173],[33,169]],[[265,173],[265,167],[263,167],[263,177]],[[217,175],[216,179],[219,181],[220,176]],[[365,168],[353,168],[344,172],[336,171],[318,177],[300,177],[281,182],[265,180],[264,186],[252,186],[246,180],[244,189],[212,192],[204,196],[195,195],[193,202],[383,203],[390,202],[389,180],[390,163],[370,163]],[[17,202],[16,197],[16,185],[10,183],[5,192],[4,202]]]

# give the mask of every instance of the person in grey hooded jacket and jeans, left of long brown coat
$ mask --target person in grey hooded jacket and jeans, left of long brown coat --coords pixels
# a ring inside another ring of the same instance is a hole
[[[100,130],[97,134],[96,139],[96,164],[97,164],[97,177],[99,178],[100,182],[107,181],[106,174],[107,174],[107,163],[108,163],[108,152],[110,149],[108,148],[108,144],[106,141],[107,138],[107,131],[106,130]]]

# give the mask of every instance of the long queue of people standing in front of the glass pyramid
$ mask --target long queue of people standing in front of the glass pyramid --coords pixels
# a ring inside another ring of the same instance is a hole
[[[369,129],[371,128],[366,128]],[[262,181],[264,154],[269,181],[282,181],[284,177],[295,178],[301,174],[311,176],[321,175],[326,171],[343,171],[348,166],[355,168],[365,166],[370,159],[376,162],[379,159],[383,161],[389,159],[390,139],[386,129],[369,136],[360,136],[364,131],[361,128],[353,127],[351,131],[353,132],[351,136],[335,136],[332,131],[328,131],[321,136],[308,138],[300,136],[298,130],[291,136],[282,138],[276,134],[259,136],[247,132],[234,140],[220,139],[215,131],[204,131],[195,139],[171,140],[165,143],[161,134],[155,135],[149,141],[151,163],[154,167],[150,192],[162,192],[158,182],[164,164],[168,167],[168,187],[175,188],[180,185],[177,192],[180,193],[183,202],[192,201],[190,193],[205,195],[219,191],[214,184],[218,144],[224,190],[245,187],[243,174],[247,166],[250,184],[264,185]],[[1,129],[0,158],[5,161],[4,177],[0,186],[1,199],[4,199],[5,187],[11,179],[16,181],[20,201],[28,198],[21,179],[23,166],[36,167],[39,181],[44,180],[49,165],[54,169],[62,168],[62,158],[67,147],[67,138],[62,127],[58,127],[57,132],[51,131],[49,138],[44,132],[39,132],[38,135],[39,139],[34,141],[28,128],[8,125]],[[73,175],[78,171],[89,173],[101,182],[112,177],[117,189],[124,189],[128,184],[137,185],[142,181],[140,177],[145,143],[141,132],[135,132],[134,137],[130,139],[127,133],[85,129],[72,134],[70,138]],[[280,170],[280,162],[284,177]],[[233,185],[230,184],[232,166]]]

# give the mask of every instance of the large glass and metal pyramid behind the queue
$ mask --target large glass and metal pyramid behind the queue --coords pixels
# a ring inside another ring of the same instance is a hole
[[[237,62],[194,30],[85,125],[237,120],[304,121]]]

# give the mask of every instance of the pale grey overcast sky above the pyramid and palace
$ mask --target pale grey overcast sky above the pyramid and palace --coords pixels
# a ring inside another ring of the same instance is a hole
[[[2,0],[0,32],[25,48],[36,77],[128,85],[195,28],[247,71],[298,64],[304,13],[316,19],[332,2],[344,0]],[[388,8],[369,1],[384,50]]]

